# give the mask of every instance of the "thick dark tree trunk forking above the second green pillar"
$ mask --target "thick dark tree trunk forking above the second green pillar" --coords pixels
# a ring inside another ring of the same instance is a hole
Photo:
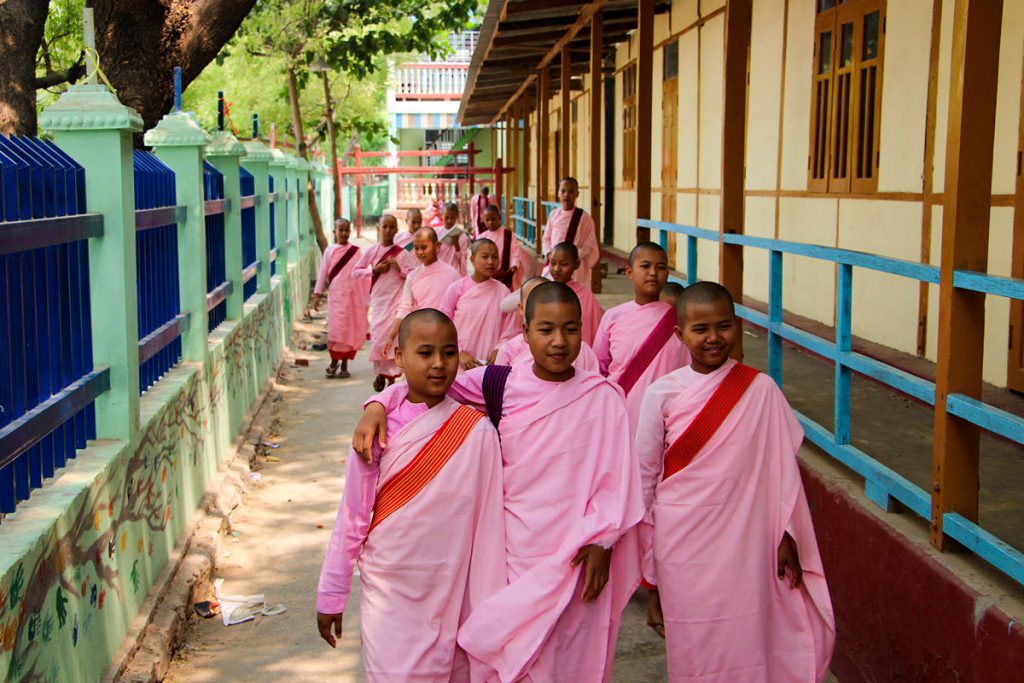
[[[118,89],[118,98],[141,115],[148,130],[171,111],[174,67],[181,67],[182,87],[191,83],[255,4],[94,0],[100,68]]]

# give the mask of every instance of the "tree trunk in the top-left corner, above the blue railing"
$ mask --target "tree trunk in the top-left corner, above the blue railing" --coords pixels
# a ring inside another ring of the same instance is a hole
[[[36,134],[36,54],[49,4],[0,2],[0,133]]]

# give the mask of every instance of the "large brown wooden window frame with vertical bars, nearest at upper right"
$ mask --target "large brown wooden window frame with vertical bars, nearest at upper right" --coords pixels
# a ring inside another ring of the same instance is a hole
[[[879,185],[886,0],[837,0],[828,4],[835,6],[819,9],[814,19],[807,188],[812,193],[872,194]],[[864,24],[874,12],[879,13],[878,44],[874,55],[864,58]],[[847,30],[851,49],[844,60]],[[826,34],[827,45],[823,41]],[[823,58],[827,62],[823,63]]]

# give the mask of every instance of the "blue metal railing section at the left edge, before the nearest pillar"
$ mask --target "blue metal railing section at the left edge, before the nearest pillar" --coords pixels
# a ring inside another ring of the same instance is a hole
[[[95,438],[85,173],[51,142],[0,135],[0,513]]]

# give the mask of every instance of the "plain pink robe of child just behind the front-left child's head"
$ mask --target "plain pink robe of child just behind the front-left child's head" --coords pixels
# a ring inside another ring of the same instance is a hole
[[[509,288],[497,280],[478,283],[463,278],[449,287],[441,312],[455,322],[460,351],[486,360],[499,344],[515,336],[515,314],[501,311],[502,300],[508,295]]]

